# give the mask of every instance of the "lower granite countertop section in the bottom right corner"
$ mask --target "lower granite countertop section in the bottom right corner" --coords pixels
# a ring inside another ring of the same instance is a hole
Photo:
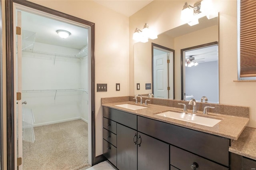
[[[256,128],[246,127],[229,151],[256,160]]]

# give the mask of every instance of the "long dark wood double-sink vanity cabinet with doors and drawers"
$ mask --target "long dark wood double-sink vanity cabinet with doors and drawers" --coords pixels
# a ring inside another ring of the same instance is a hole
[[[103,107],[103,138],[104,145],[108,144],[103,149],[104,155],[110,162],[116,160],[116,164],[112,163],[119,170],[186,170],[193,167],[228,170],[232,167],[228,138],[108,107]],[[249,166],[253,167],[253,163]],[[242,166],[245,168],[247,164]]]

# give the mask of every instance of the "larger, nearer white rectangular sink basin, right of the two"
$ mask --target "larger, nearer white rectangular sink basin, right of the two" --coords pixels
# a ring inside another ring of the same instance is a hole
[[[156,115],[163,116],[163,117],[169,117],[172,119],[178,119],[181,121],[196,123],[196,124],[204,125],[204,126],[208,126],[208,127],[213,127],[214,125],[216,125],[217,123],[219,123],[221,121],[218,119],[196,116],[196,114],[177,113],[177,112],[172,112],[172,111],[167,111],[167,112],[159,113]]]

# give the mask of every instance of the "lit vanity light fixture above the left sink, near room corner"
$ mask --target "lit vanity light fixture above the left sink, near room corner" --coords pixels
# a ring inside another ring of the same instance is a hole
[[[157,38],[157,35],[155,32],[153,32],[152,30],[150,30],[148,28],[148,24],[145,23],[144,27],[142,30],[136,28],[134,33],[133,33],[133,36],[132,36],[132,39],[137,41],[137,42],[148,42],[148,39],[156,39]]]

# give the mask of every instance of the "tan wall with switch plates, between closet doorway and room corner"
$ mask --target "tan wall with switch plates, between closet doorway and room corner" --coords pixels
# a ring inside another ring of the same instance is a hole
[[[94,1],[31,0],[36,4],[95,23],[95,84],[107,83],[107,92],[96,92],[96,156],[102,154],[102,97],[129,95],[129,20]],[[120,83],[120,91],[116,91]],[[96,87],[95,87],[96,88]]]

